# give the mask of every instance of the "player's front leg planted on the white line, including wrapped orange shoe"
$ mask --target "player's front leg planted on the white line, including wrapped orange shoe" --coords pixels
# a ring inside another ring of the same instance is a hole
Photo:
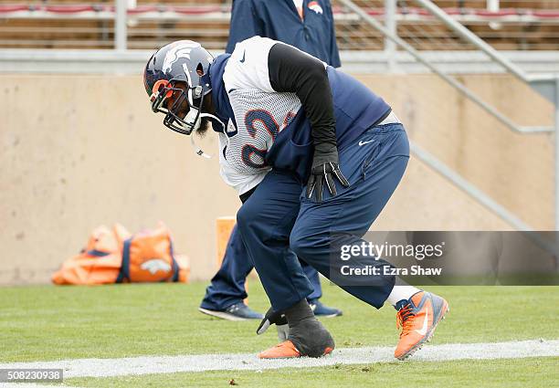
[[[237,225],[272,309],[288,320],[288,341],[260,358],[321,356],[332,351],[330,333],[316,320],[306,298],[309,279],[290,250],[290,232],[299,214],[301,183],[290,173],[271,171],[237,213]]]

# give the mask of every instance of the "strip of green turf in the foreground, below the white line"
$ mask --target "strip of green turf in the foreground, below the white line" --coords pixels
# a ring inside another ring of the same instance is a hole
[[[554,387],[559,357],[455,362],[390,362],[262,372],[196,372],[69,379],[79,387]]]

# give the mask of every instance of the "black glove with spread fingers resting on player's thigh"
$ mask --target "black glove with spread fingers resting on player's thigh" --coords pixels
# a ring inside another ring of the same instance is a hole
[[[326,148],[327,150],[323,150]],[[337,178],[343,187],[349,187],[349,182],[343,176],[338,165],[338,150],[335,146],[315,146],[314,157],[312,158],[311,176],[307,183],[307,198],[311,198],[312,193],[316,192],[316,201],[322,202],[322,186],[324,181],[328,186],[328,191],[333,196],[336,193],[336,185],[333,177]]]

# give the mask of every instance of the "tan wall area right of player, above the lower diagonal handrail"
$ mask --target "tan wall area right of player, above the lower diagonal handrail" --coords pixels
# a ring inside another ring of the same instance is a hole
[[[553,229],[554,138],[521,135],[432,75],[360,77],[381,91],[417,144],[534,228]],[[553,105],[505,75],[460,80],[521,125],[553,126]]]

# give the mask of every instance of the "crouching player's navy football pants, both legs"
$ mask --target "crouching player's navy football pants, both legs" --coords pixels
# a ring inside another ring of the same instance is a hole
[[[406,131],[401,124],[373,127],[340,150],[339,157],[351,185],[336,184],[336,196],[325,187],[322,203],[315,203],[304,197],[306,187],[292,173],[272,170],[237,213],[241,238],[276,310],[312,292],[297,256],[377,309],[394,287],[391,276],[347,285],[331,271],[337,274],[346,264],[336,259],[341,257],[340,246],[362,243],[400,182],[409,159]],[[370,257],[352,261],[364,266]]]

